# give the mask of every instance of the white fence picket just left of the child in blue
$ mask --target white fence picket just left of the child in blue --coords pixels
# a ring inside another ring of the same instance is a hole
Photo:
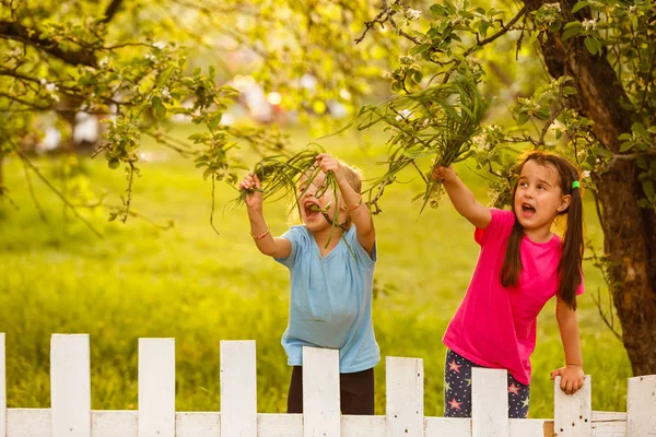
[[[221,342],[221,435],[257,436],[255,341]]]

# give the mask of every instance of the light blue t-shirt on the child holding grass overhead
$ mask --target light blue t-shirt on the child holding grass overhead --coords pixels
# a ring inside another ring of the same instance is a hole
[[[339,350],[342,374],[374,367],[380,361],[372,323],[375,243],[370,257],[351,226],[324,257],[305,226],[292,226],[282,237],[292,244],[290,256],[277,259],[290,269],[292,285],[282,335],[288,364],[303,365],[303,346],[318,346]]]

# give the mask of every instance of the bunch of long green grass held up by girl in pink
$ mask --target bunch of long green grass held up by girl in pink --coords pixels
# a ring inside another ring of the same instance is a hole
[[[423,199],[421,211],[426,204],[437,206],[443,187],[432,179],[431,170],[470,155],[471,139],[480,131],[485,106],[476,80],[455,73],[447,83],[395,97],[384,107],[364,107],[359,129],[383,122],[393,133],[388,141],[387,172],[367,189],[368,203],[375,204],[385,187],[410,166],[425,184],[424,191],[413,200]],[[427,172],[420,167],[426,160]]]

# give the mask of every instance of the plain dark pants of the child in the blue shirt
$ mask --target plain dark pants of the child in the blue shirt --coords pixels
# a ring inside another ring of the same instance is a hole
[[[374,369],[339,374],[339,406],[342,414],[374,415]],[[294,366],[288,413],[303,413],[303,366]]]

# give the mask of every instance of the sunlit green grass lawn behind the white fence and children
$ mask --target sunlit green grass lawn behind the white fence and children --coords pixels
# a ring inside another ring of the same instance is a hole
[[[309,141],[294,131],[298,146]],[[362,147],[353,137],[320,143],[331,153],[364,169],[384,158],[378,143]],[[142,164],[136,180],[133,208],[156,223],[107,222],[106,210],[84,210],[103,238],[95,237],[33,177],[46,212],[44,223],[32,202],[23,169],[5,161],[9,202],[0,203],[0,331],[7,332],[8,405],[49,406],[49,339],[51,333],[91,334],[93,409],[137,408],[137,350],[140,336],[176,339],[178,411],[219,409],[219,341],[257,340],[258,410],[283,412],[290,371],[280,345],[286,326],[289,273],[261,256],[248,234],[246,211],[222,211],[236,191],[218,190],[216,235],[209,225],[210,182],[190,162],[145,143],[144,150],[167,161]],[[244,152],[247,154],[247,152]],[[47,175],[57,160],[36,164]],[[91,189],[108,192],[120,203],[121,170],[105,160],[83,161],[93,176]],[[487,188],[466,165],[457,167],[481,201]],[[59,179],[51,176],[60,185]],[[437,210],[419,215],[410,198],[418,180],[387,189],[375,217],[379,261],[376,282],[387,290],[374,303],[374,327],[383,356],[424,359],[425,414],[442,415],[445,347],[442,335],[471,276],[478,255],[472,227],[445,198]],[[290,224],[289,204],[266,205],[274,234]],[[591,203],[586,203],[588,237],[601,244]],[[590,295],[604,288],[598,272],[584,268],[587,292],[579,298],[579,323],[586,374],[593,377],[593,408],[625,409],[630,364],[621,343],[605,327]],[[553,386],[549,373],[562,365],[562,345],[553,303],[542,311],[538,346],[532,356],[532,417],[552,417]],[[385,412],[385,361],[376,367],[376,413]]]

